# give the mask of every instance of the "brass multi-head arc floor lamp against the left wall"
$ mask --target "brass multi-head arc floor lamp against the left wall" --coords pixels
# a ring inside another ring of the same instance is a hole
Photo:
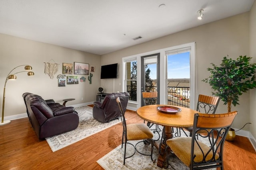
[[[32,70],[32,66],[30,66],[30,65],[20,65],[20,66],[25,66],[25,71],[20,71],[20,72],[28,72],[28,76],[34,76],[34,72],[31,71],[31,70]],[[7,77],[6,77],[6,80],[5,80],[5,83],[4,83],[2,121],[1,121],[1,123],[0,123],[0,126],[6,125],[6,124],[8,124],[8,123],[11,122],[10,120],[4,121],[4,101],[5,101],[5,90],[6,90],[5,87],[6,87],[6,83],[7,83],[8,80],[16,80],[15,74],[20,73],[20,72],[16,72],[16,73],[14,73],[14,74],[11,74],[11,72],[12,72],[13,70],[15,70],[16,68],[20,67],[20,66],[16,66],[14,69],[12,69],[12,70],[9,72],[9,74],[7,75]]]

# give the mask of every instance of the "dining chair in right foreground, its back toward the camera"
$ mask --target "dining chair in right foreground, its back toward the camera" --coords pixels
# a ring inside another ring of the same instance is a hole
[[[166,144],[190,170],[216,167],[222,170],[224,142],[236,114],[237,111],[223,114],[196,113],[192,137],[168,139]],[[201,134],[204,142],[196,138],[198,131],[204,131]]]

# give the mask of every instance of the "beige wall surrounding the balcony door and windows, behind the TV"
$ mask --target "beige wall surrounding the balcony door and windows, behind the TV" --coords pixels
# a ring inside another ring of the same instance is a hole
[[[202,82],[202,79],[209,76],[209,72],[206,69],[211,67],[210,63],[220,64],[226,55],[229,55],[232,59],[236,59],[239,55],[249,55],[249,12],[102,55],[101,63],[102,65],[120,63],[122,57],[190,42],[196,42],[197,95],[211,95],[211,87]],[[104,80],[101,81],[101,84],[105,84],[106,92],[113,85],[116,87],[116,91],[121,91],[122,88],[118,86],[119,83],[121,83],[121,76],[118,76],[114,84],[111,80],[106,81],[106,84]],[[110,90],[110,92],[112,91]],[[234,120],[232,127],[240,129],[250,121],[249,97],[249,93],[243,94],[240,96],[240,105],[232,107],[232,110],[239,111],[239,115]],[[227,106],[223,105],[222,101],[218,106],[217,112],[227,112]],[[249,130],[249,127],[244,127],[244,130]]]

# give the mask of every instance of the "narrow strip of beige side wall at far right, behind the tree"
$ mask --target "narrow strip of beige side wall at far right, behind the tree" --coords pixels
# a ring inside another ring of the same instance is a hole
[[[256,63],[256,1],[250,10],[250,57]],[[250,132],[256,138],[256,89],[250,90]]]

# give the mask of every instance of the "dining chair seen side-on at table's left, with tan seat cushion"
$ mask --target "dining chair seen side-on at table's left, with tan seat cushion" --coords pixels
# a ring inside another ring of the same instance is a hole
[[[134,123],[134,124],[126,125],[124,111],[123,111],[122,104],[120,102],[119,97],[116,98],[116,102],[118,103],[118,106],[120,109],[120,114],[121,114],[120,117],[123,125],[122,148],[124,144],[124,164],[125,164],[125,159],[132,157],[136,151],[140,154],[143,154],[142,152],[136,149],[136,145],[140,142],[138,142],[135,146],[127,142],[127,141],[137,141],[137,140],[144,140],[145,145],[151,144],[151,153],[149,154],[149,156],[151,156],[152,162],[155,162],[156,160],[153,160],[152,158],[154,141],[152,140],[153,133],[150,131],[150,128],[144,123]],[[126,157],[126,144],[130,144],[134,147],[134,153],[128,157]],[[148,154],[143,154],[143,155],[148,155]]]

